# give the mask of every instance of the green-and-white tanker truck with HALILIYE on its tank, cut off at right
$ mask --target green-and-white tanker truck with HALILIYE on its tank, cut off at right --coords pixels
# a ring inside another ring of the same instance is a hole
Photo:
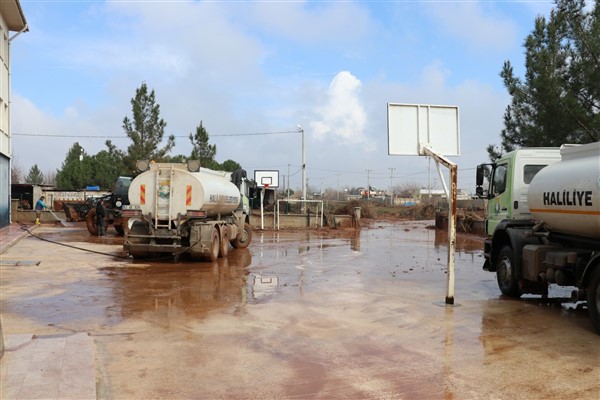
[[[483,269],[512,297],[576,287],[600,333],[600,142],[519,149],[489,166],[477,168],[488,199]]]

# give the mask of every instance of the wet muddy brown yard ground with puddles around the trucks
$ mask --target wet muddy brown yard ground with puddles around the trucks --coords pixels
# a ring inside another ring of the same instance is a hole
[[[587,310],[504,298],[461,235],[447,306],[445,233],[366,225],[255,231],[215,263],[43,226],[2,255],[4,334],[89,332],[107,399],[600,398]]]

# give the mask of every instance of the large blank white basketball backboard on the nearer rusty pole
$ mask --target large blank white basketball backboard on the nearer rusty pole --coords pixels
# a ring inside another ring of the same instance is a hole
[[[422,156],[427,146],[445,156],[460,155],[457,106],[388,103],[388,154]]]

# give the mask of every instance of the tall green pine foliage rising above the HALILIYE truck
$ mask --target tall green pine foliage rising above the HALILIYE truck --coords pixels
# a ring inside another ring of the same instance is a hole
[[[502,150],[600,140],[600,5],[557,0],[548,19],[536,18],[525,40],[525,78],[510,61],[500,76],[511,103],[504,114]],[[497,158],[493,145],[490,158]]]

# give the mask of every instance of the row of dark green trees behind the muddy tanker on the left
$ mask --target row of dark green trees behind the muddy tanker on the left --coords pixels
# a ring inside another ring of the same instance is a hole
[[[234,160],[219,163],[215,160],[217,146],[209,143],[209,135],[202,121],[195,132],[189,134],[192,150],[189,155],[169,153],[175,146],[175,136],[169,135],[166,143],[165,129],[167,123],[160,117],[160,105],[156,102],[154,90],[149,91],[145,82],[136,89],[131,99],[132,116],[123,119],[123,130],[131,140],[126,150],[117,148],[107,140],[106,149],[90,155],[75,142],[68,150],[65,160],[55,176],[44,176],[37,164],[33,165],[24,178],[25,183],[52,183],[60,189],[81,189],[89,185],[112,189],[119,176],[136,174],[137,160],[154,160],[156,162],[185,162],[200,160],[205,168],[221,171],[234,171],[241,165]],[[13,183],[21,183],[22,171],[13,164],[11,171]],[[49,178],[53,178],[51,182]]]

